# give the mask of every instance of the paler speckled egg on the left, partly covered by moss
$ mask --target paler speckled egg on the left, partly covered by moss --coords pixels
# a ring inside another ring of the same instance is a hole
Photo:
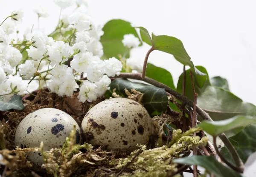
[[[44,150],[59,148],[65,142],[76,125],[76,143],[81,143],[81,133],[76,121],[64,111],[55,108],[42,108],[28,114],[18,125],[15,133],[15,145],[20,148],[40,147]],[[40,152],[29,152],[28,159],[41,166],[43,159]]]

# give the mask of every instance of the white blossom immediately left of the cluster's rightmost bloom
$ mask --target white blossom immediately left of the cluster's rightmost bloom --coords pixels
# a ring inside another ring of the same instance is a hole
[[[95,60],[87,68],[87,79],[93,82],[99,81],[104,74],[105,63],[102,60]]]

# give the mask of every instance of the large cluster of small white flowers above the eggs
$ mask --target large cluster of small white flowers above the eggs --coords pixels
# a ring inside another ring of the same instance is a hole
[[[40,81],[44,81],[44,86],[59,96],[71,97],[79,90],[79,101],[91,102],[105,94],[111,83],[109,77],[122,70],[122,63],[116,58],[101,59],[103,31],[93,23],[87,3],[84,0],[54,2],[61,9],[72,4],[77,7],[71,14],[62,15],[49,35],[38,27],[25,30],[23,40],[10,39],[9,34],[17,30],[16,22],[22,22],[22,11],[12,12],[0,25],[0,98],[4,101],[15,94],[25,94],[31,83],[38,82],[42,88]],[[49,15],[42,7],[34,11],[38,18]],[[131,40],[126,43],[131,47]],[[82,76],[87,80],[81,80]]]

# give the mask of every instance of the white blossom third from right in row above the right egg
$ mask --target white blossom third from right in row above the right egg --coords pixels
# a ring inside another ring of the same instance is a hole
[[[73,60],[70,62],[70,66],[77,72],[87,72],[87,67],[93,61],[93,54],[90,52],[84,52],[76,54]]]

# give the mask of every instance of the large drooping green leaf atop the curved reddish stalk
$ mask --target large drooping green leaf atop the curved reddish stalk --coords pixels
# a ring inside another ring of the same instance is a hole
[[[206,75],[195,68],[193,62],[190,60],[190,57],[183,46],[183,43],[177,38],[166,35],[156,36],[152,33],[152,41],[152,46],[155,50],[160,50],[172,54],[177,61],[179,61],[183,65],[190,66],[194,74],[201,76]]]

